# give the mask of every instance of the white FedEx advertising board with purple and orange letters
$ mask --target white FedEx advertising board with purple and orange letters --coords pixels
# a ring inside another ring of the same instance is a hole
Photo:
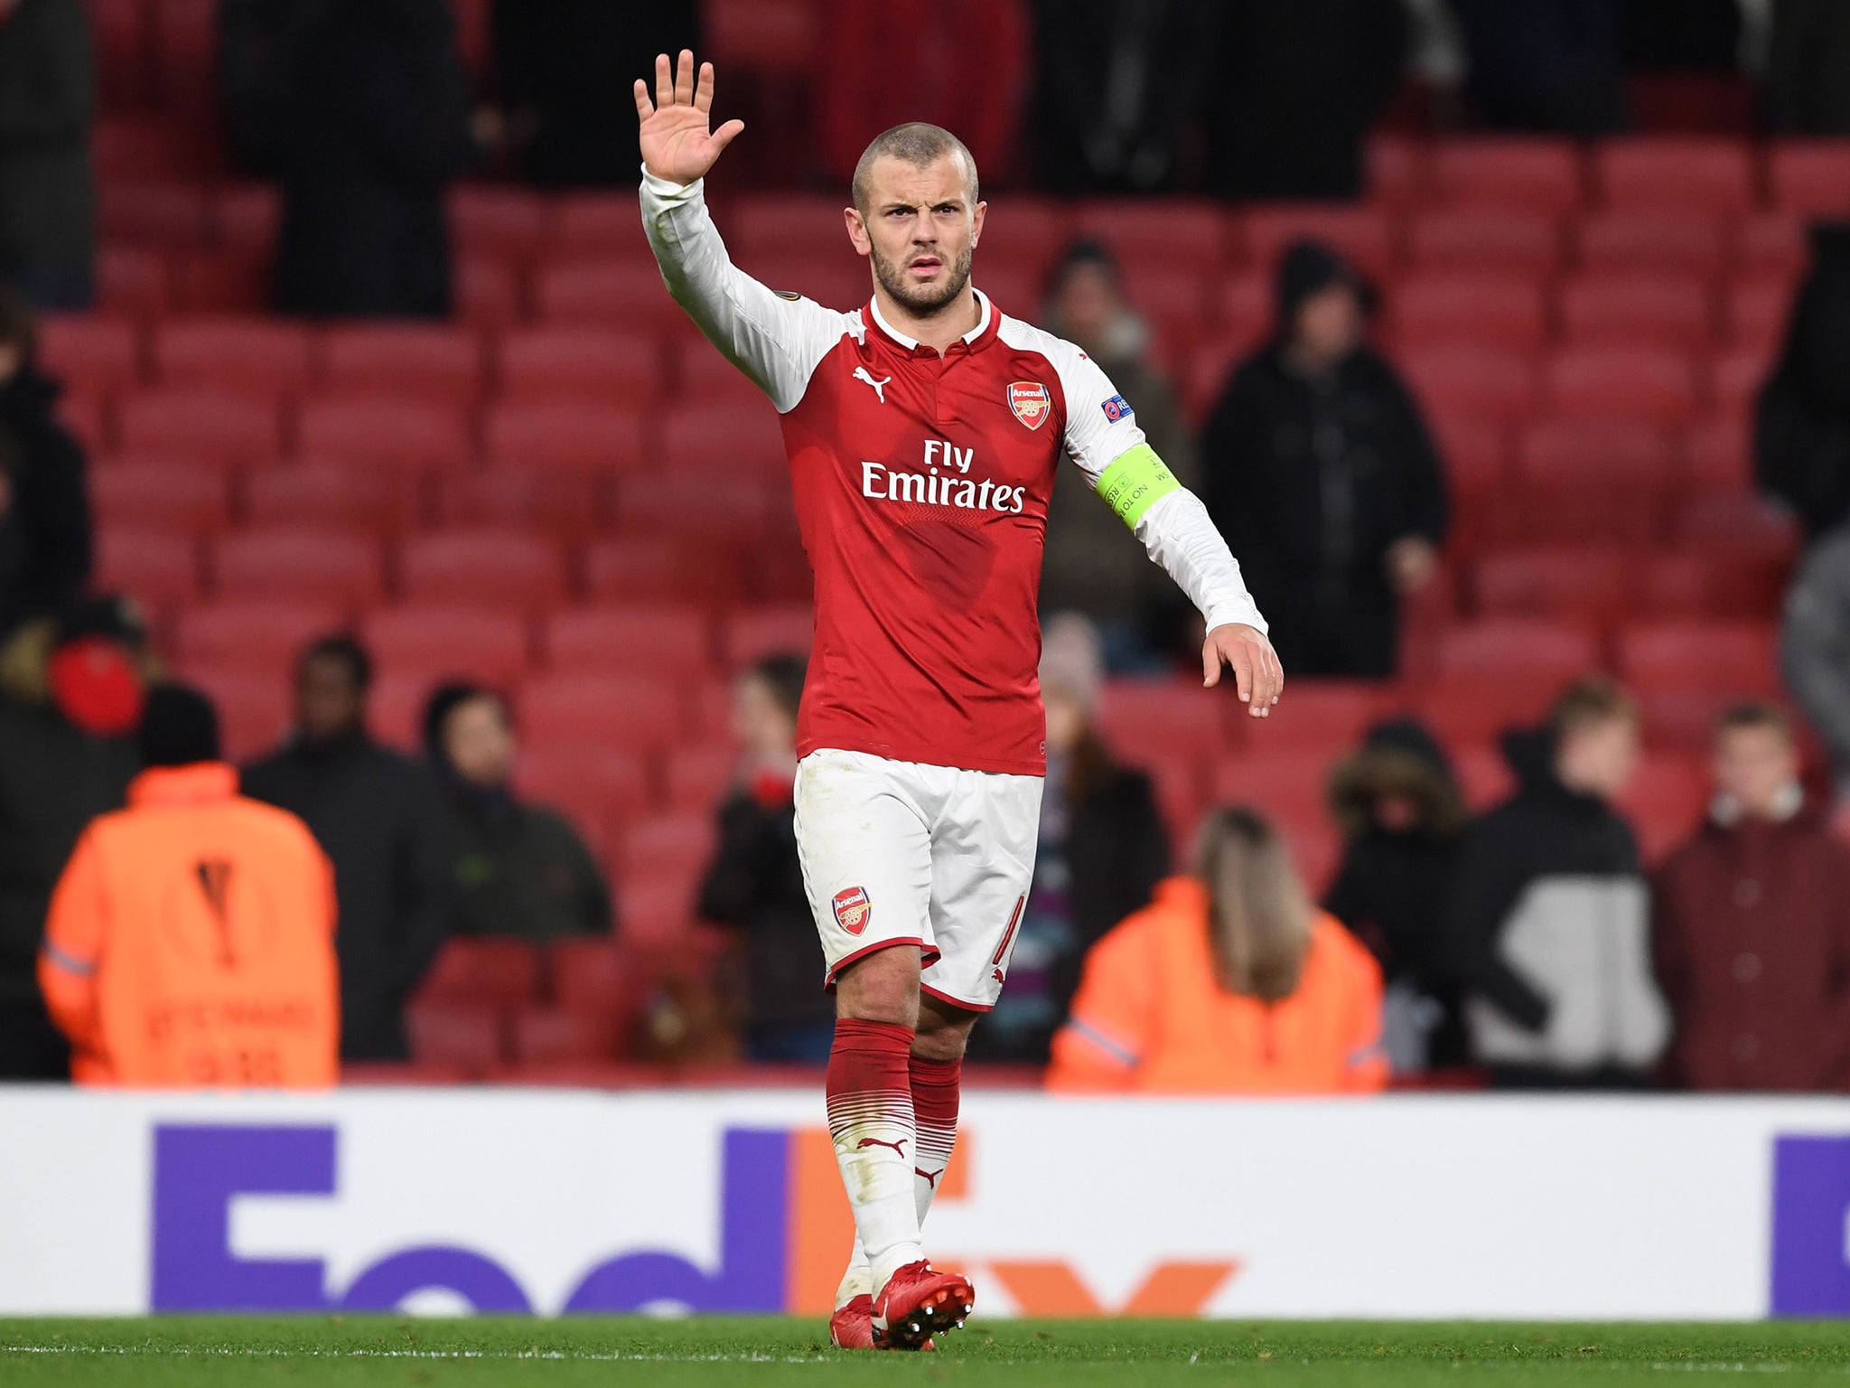
[[[814,1094],[0,1088],[0,1314],[827,1312]],[[1850,1101],[977,1094],[984,1314],[1850,1314]]]

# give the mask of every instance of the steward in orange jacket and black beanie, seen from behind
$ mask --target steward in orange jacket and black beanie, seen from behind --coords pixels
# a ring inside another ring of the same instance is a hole
[[[237,794],[211,705],[148,700],[128,809],[91,822],[52,896],[39,986],[72,1077],[327,1086],[339,1075],[333,868],[294,814]]]

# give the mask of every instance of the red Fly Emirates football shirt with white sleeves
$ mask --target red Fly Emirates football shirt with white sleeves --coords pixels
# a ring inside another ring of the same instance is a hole
[[[797,751],[1042,775],[1047,498],[1062,453],[1097,483],[1143,442],[1130,407],[1077,346],[982,294],[977,329],[940,355],[873,302],[840,313],[734,268],[699,183],[646,178],[642,204],[670,291],[783,416],[816,572]],[[1143,524],[1178,502],[1199,509],[1177,492]],[[1212,626],[1264,629],[1214,540],[1184,557],[1202,570],[1191,596]]]

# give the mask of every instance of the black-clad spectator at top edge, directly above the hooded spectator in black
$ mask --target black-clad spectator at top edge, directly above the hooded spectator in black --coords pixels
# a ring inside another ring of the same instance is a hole
[[[1219,9],[1208,191],[1362,196],[1369,126],[1406,65],[1404,0],[1240,0]]]

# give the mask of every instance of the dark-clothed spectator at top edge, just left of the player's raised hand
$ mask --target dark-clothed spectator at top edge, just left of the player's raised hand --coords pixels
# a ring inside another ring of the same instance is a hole
[[[490,22],[496,94],[527,181],[629,189],[629,81],[653,81],[657,54],[705,52],[696,0],[496,0]]]

